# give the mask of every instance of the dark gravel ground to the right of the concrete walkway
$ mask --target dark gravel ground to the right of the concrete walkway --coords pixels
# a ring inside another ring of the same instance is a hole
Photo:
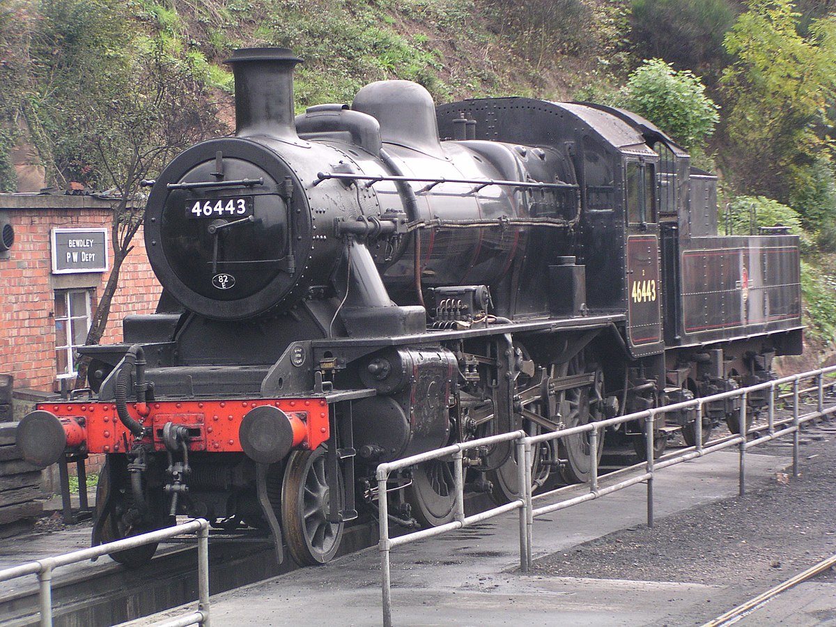
[[[791,440],[750,449],[791,455]],[[800,477],[660,518],[539,559],[533,574],[736,586],[740,601],[836,553],[836,426],[802,436]],[[788,470],[788,473],[792,469]],[[818,581],[836,582],[828,570]]]

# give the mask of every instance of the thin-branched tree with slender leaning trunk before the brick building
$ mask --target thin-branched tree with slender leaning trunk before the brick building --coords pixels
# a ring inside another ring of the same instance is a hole
[[[27,78],[17,113],[51,181],[80,181],[113,199],[112,268],[87,337],[98,344],[142,225],[140,181],[221,130],[216,92],[206,59],[155,13],[137,17],[109,0],[42,0],[28,11],[37,15],[19,60]],[[79,383],[85,374],[79,364]]]

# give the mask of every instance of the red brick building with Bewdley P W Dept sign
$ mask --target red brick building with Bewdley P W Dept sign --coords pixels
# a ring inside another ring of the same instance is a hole
[[[112,217],[110,203],[93,196],[0,194],[0,222],[14,229],[0,257],[0,374],[14,376],[16,397],[73,386],[74,347],[84,344],[112,268]],[[153,312],[161,293],[141,229],[133,244],[103,344],[120,342],[125,314]]]

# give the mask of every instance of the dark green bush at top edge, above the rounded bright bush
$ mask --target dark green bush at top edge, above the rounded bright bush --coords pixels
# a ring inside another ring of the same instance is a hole
[[[730,0],[633,0],[630,38],[642,59],[713,74],[735,19]]]

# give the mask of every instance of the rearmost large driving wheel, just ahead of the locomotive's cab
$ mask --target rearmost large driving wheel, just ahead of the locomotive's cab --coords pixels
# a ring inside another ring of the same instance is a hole
[[[561,395],[560,413],[567,428],[588,425],[599,421],[603,417],[604,405],[604,373],[597,364],[586,364],[584,354],[575,355],[565,364],[566,375],[590,373],[594,375],[592,385],[571,388]],[[592,446],[590,433],[577,433],[560,439],[560,446],[566,463],[561,466],[560,473],[567,483],[584,483],[592,477]],[[598,450],[595,451],[600,461],[604,452],[604,433],[598,434]]]

